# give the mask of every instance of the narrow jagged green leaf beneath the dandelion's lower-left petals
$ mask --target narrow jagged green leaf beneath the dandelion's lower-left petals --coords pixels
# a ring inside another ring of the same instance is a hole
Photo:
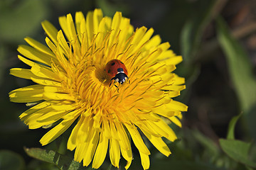
[[[77,169],[85,169],[79,162],[75,162],[73,158],[70,158],[66,155],[59,154],[58,152],[47,150],[47,149],[40,149],[40,148],[24,148],[25,152],[33,158],[39,159],[43,162],[49,162],[55,164],[58,169],[63,170],[77,170]],[[89,170],[91,168],[87,168]]]

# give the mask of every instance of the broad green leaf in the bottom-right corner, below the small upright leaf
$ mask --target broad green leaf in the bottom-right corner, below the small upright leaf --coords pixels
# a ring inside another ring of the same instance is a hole
[[[251,147],[250,143],[242,142],[240,140],[220,139],[219,141],[220,147],[229,157],[235,159],[237,162],[256,168],[256,162],[252,162],[248,159],[248,153]]]

